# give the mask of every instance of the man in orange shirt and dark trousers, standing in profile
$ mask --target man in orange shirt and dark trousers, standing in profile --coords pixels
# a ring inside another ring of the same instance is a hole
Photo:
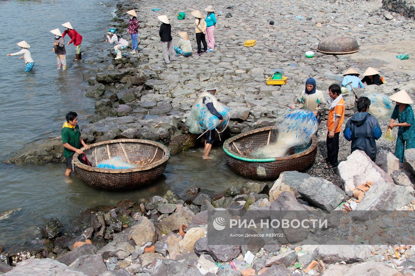
[[[339,165],[339,133],[342,131],[344,120],[344,99],[339,85],[332,84],[329,87],[329,117],[327,119],[327,169]]]

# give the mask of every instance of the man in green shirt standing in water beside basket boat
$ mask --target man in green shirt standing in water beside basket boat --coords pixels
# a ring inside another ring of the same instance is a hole
[[[78,126],[78,114],[76,112],[69,112],[66,114],[66,122],[62,126],[62,143],[63,143],[63,156],[66,161],[66,176],[70,176],[72,172],[72,157],[75,152],[82,154],[80,150],[81,144],[85,149],[89,149],[89,145],[81,138],[81,131]]]

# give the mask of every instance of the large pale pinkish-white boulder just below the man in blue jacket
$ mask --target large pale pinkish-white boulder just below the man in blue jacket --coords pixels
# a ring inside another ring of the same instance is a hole
[[[352,191],[367,181],[393,183],[391,176],[376,165],[362,150],[355,150],[347,157],[346,161],[340,162],[338,172],[345,191]]]

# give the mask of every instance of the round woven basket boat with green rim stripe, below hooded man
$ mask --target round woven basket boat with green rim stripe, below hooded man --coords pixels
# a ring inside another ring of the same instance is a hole
[[[231,169],[244,177],[259,180],[276,180],[281,172],[298,171],[306,169],[317,154],[317,137],[305,148],[291,148],[291,155],[276,158],[255,158],[249,154],[262,146],[275,142],[276,130],[273,126],[256,128],[252,131],[238,134],[229,138],[223,144],[226,161]],[[295,153],[297,152],[297,153]]]

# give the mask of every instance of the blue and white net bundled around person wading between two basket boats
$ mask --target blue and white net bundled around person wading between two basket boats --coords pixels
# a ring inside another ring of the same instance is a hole
[[[210,113],[205,104],[196,104],[186,119],[186,126],[188,126],[190,133],[199,134],[207,129],[226,126],[229,122],[229,108],[219,103],[216,110],[223,117],[222,123],[215,115]]]

